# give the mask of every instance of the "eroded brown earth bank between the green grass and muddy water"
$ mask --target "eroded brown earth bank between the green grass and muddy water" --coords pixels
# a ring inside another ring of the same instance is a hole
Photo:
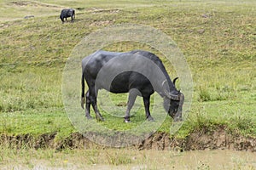
[[[0,145],[10,148],[33,149],[105,149],[108,146],[95,144],[81,133],[72,133],[67,139],[55,141],[56,133],[42,134],[37,138],[30,134],[9,136],[2,134]],[[134,137],[133,137],[134,138]],[[248,150],[256,151],[256,138],[230,134],[225,127],[209,132],[206,128],[190,133],[186,139],[170,137],[169,133],[154,133],[147,139],[129,146],[137,150]]]

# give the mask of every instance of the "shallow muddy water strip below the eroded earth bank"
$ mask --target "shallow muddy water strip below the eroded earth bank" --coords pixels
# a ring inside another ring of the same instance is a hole
[[[3,153],[0,169],[256,169],[256,153],[233,150],[5,150]],[[119,157],[123,158],[117,161]]]

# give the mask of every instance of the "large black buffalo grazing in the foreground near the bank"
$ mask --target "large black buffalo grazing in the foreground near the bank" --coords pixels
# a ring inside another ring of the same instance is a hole
[[[164,99],[164,108],[174,121],[182,120],[184,96],[175,87],[177,78],[172,82],[162,61],[148,51],[115,53],[99,50],[85,57],[82,60],[81,106],[83,109],[84,79],[89,87],[85,94],[85,116],[88,119],[91,119],[90,105],[92,105],[96,119],[104,121],[96,105],[98,90],[104,88],[115,94],[129,92],[125,122],[130,122],[131,107],[137,95],[143,97],[148,121],[154,121],[149,112],[149,99],[154,91]]]

